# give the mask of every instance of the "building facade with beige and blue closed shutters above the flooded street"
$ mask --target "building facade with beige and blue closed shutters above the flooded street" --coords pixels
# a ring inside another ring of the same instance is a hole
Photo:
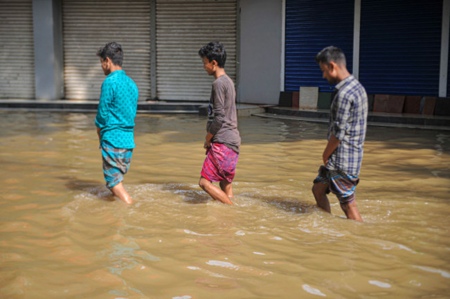
[[[0,0],[0,98],[98,100],[96,51],[123,45],[139,100],[205,101],[201,46],[226,46],[240,102],[331,92],[314,56],[339,46],[368,93],[448,96],[450,0]]]

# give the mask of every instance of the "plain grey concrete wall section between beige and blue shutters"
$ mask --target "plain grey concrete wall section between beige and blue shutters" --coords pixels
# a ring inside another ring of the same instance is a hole
[[[282,0],[240,0],[240,102],[278,104]]]

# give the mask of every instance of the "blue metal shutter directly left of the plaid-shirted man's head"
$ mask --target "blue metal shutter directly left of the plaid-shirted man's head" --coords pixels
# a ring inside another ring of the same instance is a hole
[[[285,91],[300,86],[332,91],[314,57],[326,46],[343,50],[352,71],[354,0],[286,0]]]

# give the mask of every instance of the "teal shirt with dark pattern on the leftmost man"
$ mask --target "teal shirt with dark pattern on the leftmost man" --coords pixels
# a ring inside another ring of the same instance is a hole
[[[96,117],[96,126],[101,129],[100,143],[107,141],[116,148],[134,148],[137,106],[138,87],[132,78],[125,75],[125,71],[107,75],[102,84]]]

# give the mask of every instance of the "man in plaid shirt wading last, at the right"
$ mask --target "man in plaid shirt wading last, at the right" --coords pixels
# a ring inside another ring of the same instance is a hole
[[[348,219],[363,221],[357,203],[355,188],[363,159],[366,138],[368,100],[364,87],[351,75],[340,48],[329,46],[316,55],[323,78],[336,84],[336,95],[330,108],[328,143],[323,151],[323,165],[314,179],[312,192],[317,206],[331,212],[327,194],[336,194]]]

